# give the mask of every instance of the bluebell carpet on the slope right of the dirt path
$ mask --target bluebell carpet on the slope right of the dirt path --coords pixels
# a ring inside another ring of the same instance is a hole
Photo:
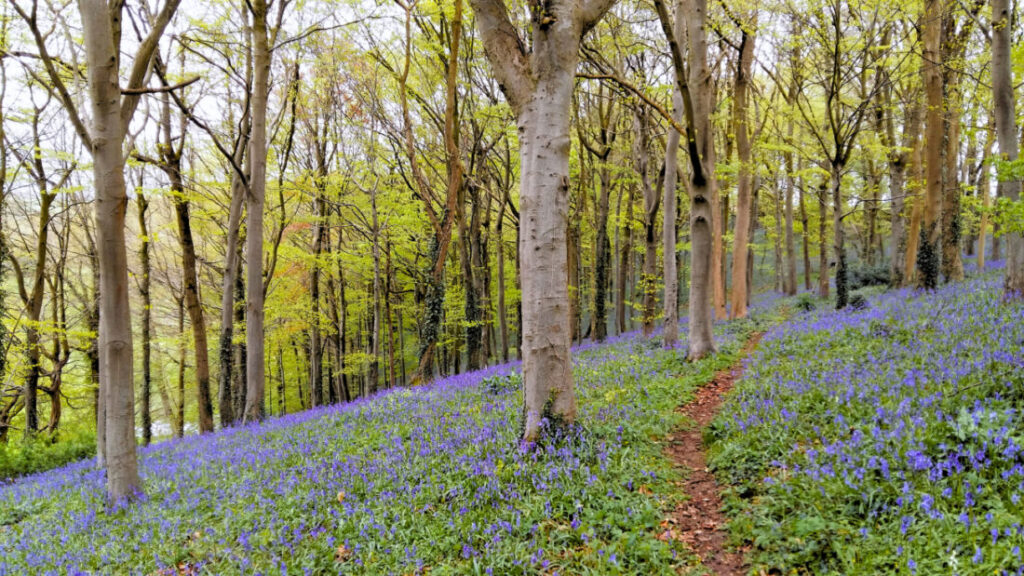
[[[756,567],[1024,573],[1024,305],[1001,278],[772,329],[713,425]]]

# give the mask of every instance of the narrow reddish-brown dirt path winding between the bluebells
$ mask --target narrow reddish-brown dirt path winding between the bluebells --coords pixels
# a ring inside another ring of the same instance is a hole
[[[718,413],[723,396],[742,375],[743,359],[758,345],[761,336],[752,336],[735,364],[716,373],[697,389],[693,400],[680,407],[694,424],[669,438],[669,455],[676,465],[687,468],[681,486],[687,499],[663,523],[666,536],[685,542],[716,576],[742,576],[746,572],[743,554],[727,545],[729,534],[727,518],[722,511],[721,488],[708,469],[701,433]]]

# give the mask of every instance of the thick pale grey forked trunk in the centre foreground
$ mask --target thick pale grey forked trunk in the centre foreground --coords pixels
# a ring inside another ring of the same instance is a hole
[[[569,110],[580,42],[613,0],[552,0],[532,7],[527,51],[503,0],[473,0],[487,59],[516,116],[520,148],[523,440],[542,420],[575,419],[569,358],[565,230]]]

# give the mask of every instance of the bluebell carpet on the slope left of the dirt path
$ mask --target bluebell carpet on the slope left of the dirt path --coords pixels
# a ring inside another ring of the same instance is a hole
[[[0,488],[0,575],[654,574],[675,472],[652,439],[734,358],[629,335],[578,348],[580,426],[517,442],[515,366],[141,451],[145,499],[103,510],[88,461]],[[482,384],[481,384],[482,382]]]

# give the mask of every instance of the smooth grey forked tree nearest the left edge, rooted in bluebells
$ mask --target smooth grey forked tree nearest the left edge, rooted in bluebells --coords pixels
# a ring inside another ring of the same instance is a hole
[[[99,269],[99,405],[103,426],[97,435],[99,459],[106,467],[111,503],[141,490],[135,457],[135,386],[131,307],[128,301],[128,252],[125,245],[127,190],[122,143],[134,116],[158,43],[180,0],[167,0],[150,23],[121,87],[121,37],[124,4],[80,0],[79,13],[86,54],[86,79],[91,126],[87,127],[76,99],[50,57],[39,20],[39,4],[12,5],[32,32],[49,89],[63,105],[79,138],[92,155],[96,190],[96,244]]]

